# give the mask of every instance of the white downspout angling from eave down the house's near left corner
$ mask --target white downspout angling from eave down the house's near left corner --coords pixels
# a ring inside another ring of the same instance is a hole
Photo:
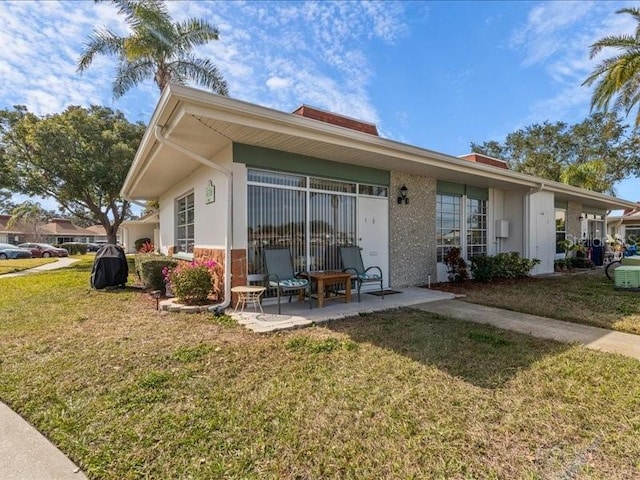
[[[169,148],[172,148],[180,153],[185,154],[188,157],[193,158],[195,161],[206,165],[207,167],[213,168],[218,172],[222,173],[227,179],[227,234],[224,237],[224,258],[225,258],[225,268],[224,268],[224,300],[221,303],[216,305],[211,305],[209,310],[212,312],[221,312],[225,308],[229,306],[231,303],[231,239],[233,235],[233,223],[232,223],[232,202],[233,202],[233,192],[232,188],[232,173],[230,170],[224,168],[217,163],[212,162],[208,158],[203,157],[202,155],[192,152],[182,145],[178,145],[177,143],[169,140],[162,134],[162,127],[160,125],[156,125],[153,131],[156,140],[163,145],[166,145]]]

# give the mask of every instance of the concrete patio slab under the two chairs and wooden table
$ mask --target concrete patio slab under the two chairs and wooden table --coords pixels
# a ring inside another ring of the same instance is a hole
[[[385,295],[382,297],[362,292],[362,301],[358,302],[357,294],[353,294],[350,303],[345,303],[344,299],[330,299],[325,301],[323,308],[316,308],[316,301],[313,301],[313,309],[309,309],[309,301],[297,302],[296,298],[288,302],[288,297],[281,299],[282,313],[278,315],[278,305],[275,299],[265,299],[262,305],[264,314],[255,311],[247,305],[244,312],[233,313],[233,309],[227,310],[240,325],[256,333],[268,333],[278,330],[288,330],[300,328],[314,323],[322,323],[328,320],[351,317],[361,313],[369,313],[392,308],[410,307],[427,302],[439,300],[449,300],[455,295],[447,292],[439,292],[427,288],[398,288],[394,289],[399,293]]]

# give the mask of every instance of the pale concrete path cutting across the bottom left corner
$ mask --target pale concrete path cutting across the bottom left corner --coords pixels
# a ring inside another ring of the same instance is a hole
[[[49,440],[0,402],[0,478],[84,480],[87,477]]]

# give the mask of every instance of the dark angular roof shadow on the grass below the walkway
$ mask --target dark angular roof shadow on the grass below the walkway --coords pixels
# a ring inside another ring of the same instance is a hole
[[[499,388],[520,370],[571,348],[408,308],[330,322],[327,327],[482,388]]]

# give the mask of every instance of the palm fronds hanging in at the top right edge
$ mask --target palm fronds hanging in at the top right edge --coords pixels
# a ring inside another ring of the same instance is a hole
[[[591,108],[607,110],[615,98],[615,111],[628,115],[640,101],[640,8],[623,8],[616,13],[628,13],[638,22],[635,35],[609,35],[591,45],[589,58],[603,48],[615,48],[620,54],[603,60],[582,85],[596,84],[591,97]],[[636,127],[640,127],[640,110],[636,114]]]

